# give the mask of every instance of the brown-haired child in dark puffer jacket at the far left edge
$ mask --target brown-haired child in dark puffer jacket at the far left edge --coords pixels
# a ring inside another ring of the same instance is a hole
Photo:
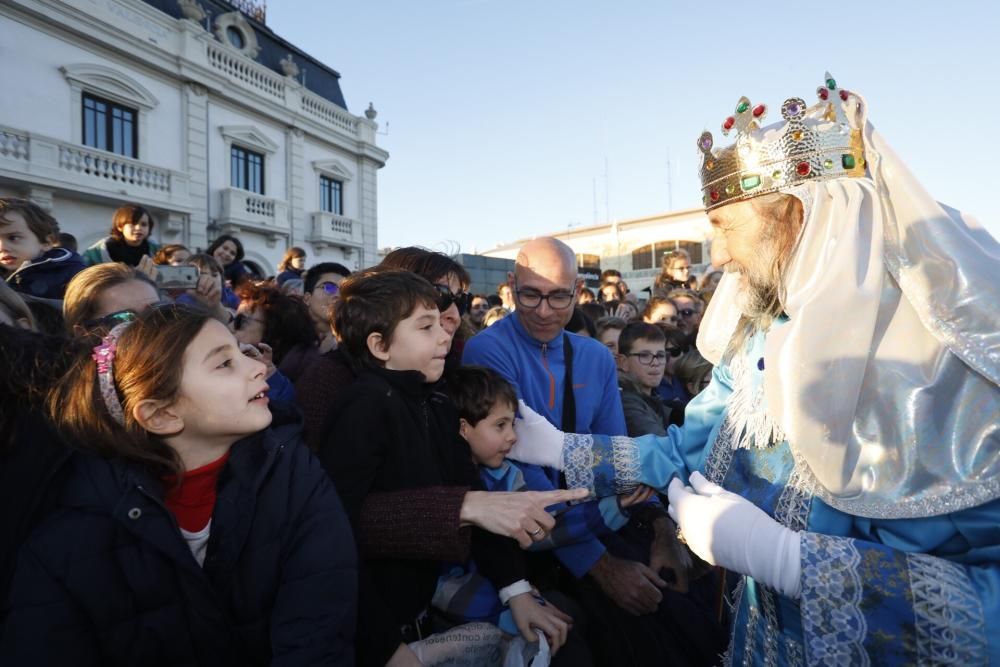
[[[55,246],[59,223],[42,207],[16,197],[0,197],[0,274],[18,292],[62,299],[83,258]]]

